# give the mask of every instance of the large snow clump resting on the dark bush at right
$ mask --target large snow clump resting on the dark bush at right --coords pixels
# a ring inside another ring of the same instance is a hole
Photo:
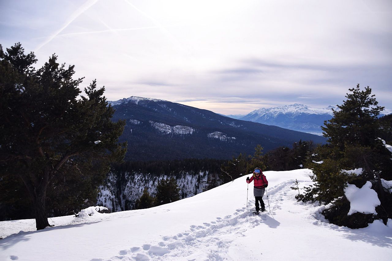
[[[370,181],[366,181],[365,185],[361,188],[358,188],[356,185],[347,184],[347,187],[344,188],[344,194],[348,201],[350,201],[348,216],[355,212],[377,214],[376,207],[381,202],[378,199],[377,192],[372,189],[372,183]]]

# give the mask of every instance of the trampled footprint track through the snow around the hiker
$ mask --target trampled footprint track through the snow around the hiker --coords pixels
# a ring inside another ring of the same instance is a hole
[[[291,190],[294,180],[280,183],[269,190],[270,206],[268,206],[266,194],[263,197],[265,207],[271,212],[253,215],[254,199],[248,201],[248,207],[236,209],[232,215],[216,217],[215,220],[204,222],[202,225],[191,225],[189,230],[178,233],[175,236],[163,236],[157,245],[145,244],[133,246],[119,251],[110,261],[118,260],[232,260],[227,252],[232,243],[233,236],[245,236],[243,233],[248,229],[266,225],[276,228],[279,222],[273,217],[276,210],[281,209],[281,201]],[[299,181],[301,182],[301,181]],[[253,198],[252,195],[249,195]],[[102,259],[101,259],[102,260]],[[95,261],[91,259],[91,261]]]

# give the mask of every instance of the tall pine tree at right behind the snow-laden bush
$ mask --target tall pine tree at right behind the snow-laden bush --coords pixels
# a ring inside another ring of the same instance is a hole
[[[344,196],[343,190],[348,182],[363,185],[367,180],[374,180],[382,201],[381,178],[388,177],[388,168],[392,167],[390,152],[377,137],[381,129],[377,116],[383,107],[377,106],[369,87],[361,91],[357,85],[349,91],[347,100],[338,105],[334,117],[325,121],[322,127],[328,144],[318,147],[315,152],[323,163],[309,163],[316,182],[307,189],[306,199],[329,203]],[[357,177],[341,171],[355,168],[363,168],[363,174]]]

